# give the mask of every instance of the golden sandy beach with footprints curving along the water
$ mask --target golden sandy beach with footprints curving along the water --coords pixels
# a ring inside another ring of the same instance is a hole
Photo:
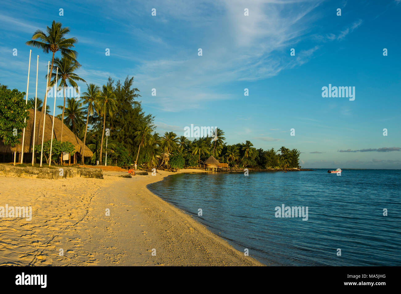
[[[146,188],[170,174],[0,176],[0,206],[32,206],[30,221],[0,218],[0,265],[263,265]]]

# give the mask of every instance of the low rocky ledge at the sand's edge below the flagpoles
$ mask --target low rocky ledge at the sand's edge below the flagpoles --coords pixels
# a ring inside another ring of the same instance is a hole
[[[12,166],[0,164],[0,175],[17,176],[20,178],[38,179],[62,179],[62,178],[97,178],[103,179],[103,171],[99,168],[75,168],[66,166],[33,167],[33,166]]]

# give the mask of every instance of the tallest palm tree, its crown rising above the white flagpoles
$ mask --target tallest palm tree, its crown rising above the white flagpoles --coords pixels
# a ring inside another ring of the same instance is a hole
[[[68,27],[62,28],[61,26],[61,22],[53,20],[51,28],[47,27],[46,32],[36,30],[32,35],[32,40],[25,43],[28,46],[42,49],[45,53],[49,53],[50,51],[53,53],[50,72],[53,72],[54,55],[57,51],[61,52],[62,57],[67,57],[70,60],[76,61],[78,56],[78,53],[71,49],[75,47],[74,44],[78,42],[77,38],[65,38],[70,32],[70,29]],[[48,87],[49,84],[46,88]],[[44,112],[42,112],[42,114],[44,114]]]

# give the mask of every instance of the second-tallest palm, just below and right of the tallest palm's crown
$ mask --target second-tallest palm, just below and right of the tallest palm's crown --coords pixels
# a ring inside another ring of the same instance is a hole
[[[85,82],[85,80],[83,78],[80,78],[77,74],[74,73],[75,70],[77,70],[81,67],[81,64],[79,64],[77,61],[63,57],[61,59],[55,58],[54,63],[55,63],[55,68],[53,69],[53,73],[51,74],[51,77],[53,78],[51,85],[53,85],[55,83],[56,72],[58,71],[57,79],[60,80],[60,87],[63,87],[64,104],[63,104],[63,112],[61,112],[61,121],[64,121],[64,111],[65,111],[64,87],[67,87],[68,83],[69,83],[72,87],[74,87],[74,91],[78,92],[77,82],[78,81]],[[70,97],[70,98],[73,98],[73,97]],[[63,124],[61,125],[60,141],[63,141]]]

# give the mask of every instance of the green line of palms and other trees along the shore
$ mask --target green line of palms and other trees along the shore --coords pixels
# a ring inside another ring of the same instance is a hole
[[[76,71],[81,68],[73,50],[77,38],[69,38],[69,28],[53,21],[46,32],[36,30],[28,46],[40,48],[45,53],[52,54],[47,86],[75,87],[77,82],[86,81],[79,77]],[[60,53],[60,57],[55,54]],[[138,98],[140,90],[134,88],[134,77],[127,76],[124,82],[115,82],[111,77],[102,86],[87,83],[85,92],[80,93],[79,99],[66,97],[63,91],[63,106],[58,117],[64,124],[82,140],[93,152],[92,158],[81,154],[81,164],[107,164],[129,166],[137,162],[144,168],[158,167],[168,164],[174,168],[195,166],[201,164],[209,156],[214,156],[221,163],[229,166],[245,168],[296,168],[299,167],[300,152],[289,150],[284,146],[279,150],[256,149],[250,141],[229,145],[225,142],[225,133],[217,128],[212,136],[189,140],[184,136],[178,137],[174,132],[163,135],[155,132],[154,116],[145,114]],[[4,86],[4,85],[2,85]],[[30,98],[28,107],[34,108],[35,99]],[[36,110],[42,114],[49,112],[49,106],[43,106],[43,100],[38,98]],[[110,136],[105,146],[105,128],[110,129]],[[61,138],[63,142],[63,124]],[[62,152],[65,144],[56,148]],[[65,147],[67,148],[67,147]],[[71,151],[71,146],[68,148]],[[84,150],[83,146],[81,148]],[[57,159],[57,158],[56,158]]]

